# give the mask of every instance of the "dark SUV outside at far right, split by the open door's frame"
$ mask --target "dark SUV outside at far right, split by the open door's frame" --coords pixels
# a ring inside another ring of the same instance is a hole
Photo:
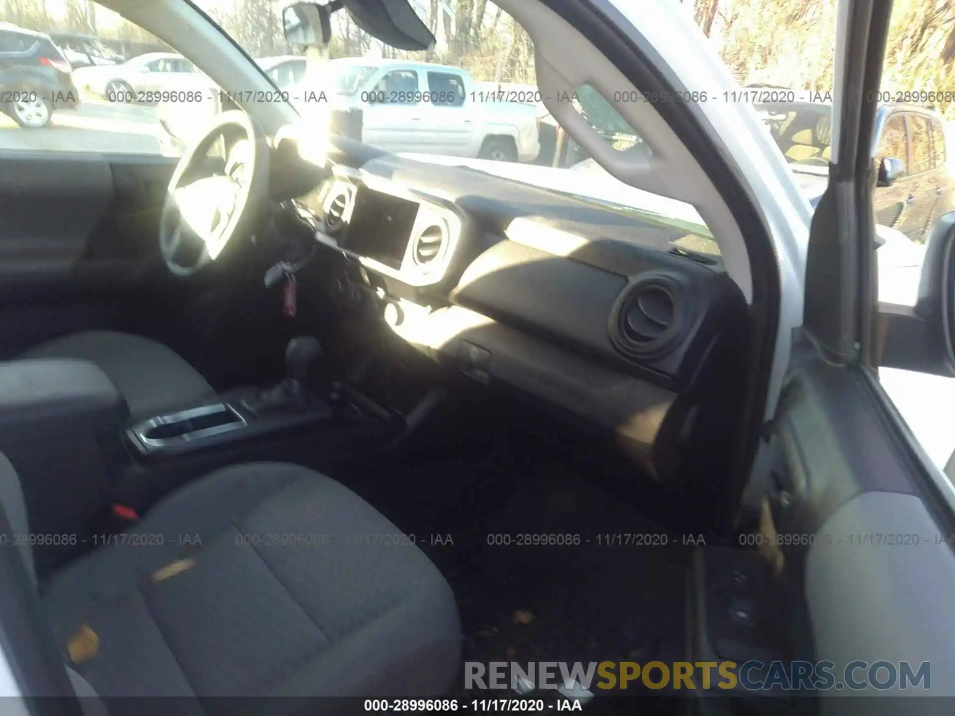
[[[816,206],[829,182],[832,105],[796,101],[757,104],[796,179]],[[876,116],[873,201],[879,223],[922,243],[936,219],[955,209],[942,117],[910,104],[884,104]]]

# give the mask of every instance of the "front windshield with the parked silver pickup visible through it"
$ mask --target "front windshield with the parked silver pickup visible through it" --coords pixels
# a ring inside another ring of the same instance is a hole
[[[196,4],[257,60],[302,53],[286,43],[281,16],[270,4]],[[709,237],[689,203],[613,178],[562,130],[542,103],[534,42],[516,18],[491,0],[410,4],[435,35],[430,50],[395,50],[338,11],[331,16],[329,45],[305,53],[301,79],[284,84],[272,77],[304,123],[330,115],[334,131],[393,154],[625,212],[651,223],[662,247],[690,235]],[[574,88],[567,100],[614,149],[652,156],[639,133],[590,85]]]

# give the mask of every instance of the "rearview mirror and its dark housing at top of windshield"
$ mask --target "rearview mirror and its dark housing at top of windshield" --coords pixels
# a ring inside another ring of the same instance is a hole
[[[295,3],[282,13],[286,40],[300,47],[325,47],[331,40],[330,16],[345,8],[361,30],[398,50],[427,50],[435,35],[408,0],[332,0],[327,5]]]

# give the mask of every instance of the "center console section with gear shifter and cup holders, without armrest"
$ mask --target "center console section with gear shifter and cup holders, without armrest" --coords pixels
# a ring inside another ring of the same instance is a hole
[[[121,431],[126,466],[114,500],[148,509],[193,479],[246,462],[294,462],[331,472],[406,430],[401,415],[358,390],[323,384],[315,375],[321,357],[314,338],[294,338],[286,347],[286,377],[277,384],[229,390],[127,424]]]

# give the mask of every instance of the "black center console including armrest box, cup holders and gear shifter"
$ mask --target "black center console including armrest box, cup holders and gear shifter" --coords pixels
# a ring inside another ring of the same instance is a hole
[[[402,415],[353,387],[309,381],[321,353],[315,339],[293,339],[277,385],[132,422],[94,363],[0,363],[0,452],[20,478],[31,534],[43,536],[33,548],[37,571],[75,558],[94,535],[122,529],[114,523],[129,512],[117,506],[141,514],[185,483],[239,463],[329,471],[405,431]]]

